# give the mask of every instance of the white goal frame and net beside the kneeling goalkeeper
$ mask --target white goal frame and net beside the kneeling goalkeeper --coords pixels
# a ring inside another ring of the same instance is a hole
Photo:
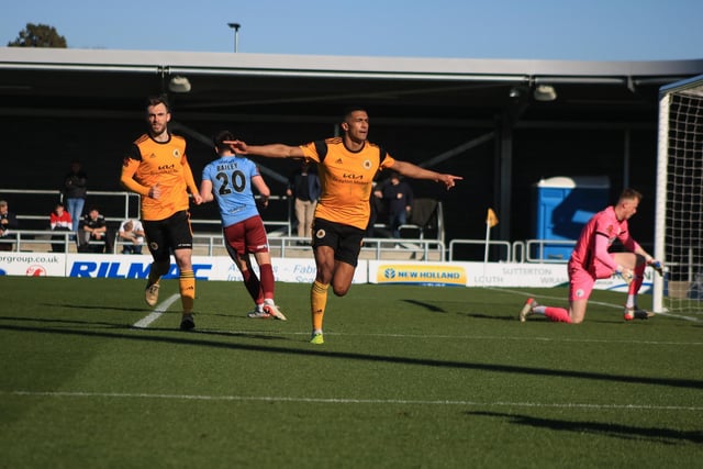
[[[703,75],[659,92],[654,310],[703,314]]]

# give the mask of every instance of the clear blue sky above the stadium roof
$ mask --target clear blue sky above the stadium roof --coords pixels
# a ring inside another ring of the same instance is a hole
[[[49,24],[71,48],[389,57],[703,58],[702,0],[25,0],[0,44]]]

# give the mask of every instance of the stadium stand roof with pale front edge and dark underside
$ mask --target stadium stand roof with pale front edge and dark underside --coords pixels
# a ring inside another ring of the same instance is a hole
[[[703,59],[569,62],[299,56],[63,48],[0,48],[0,112],[132,115],[145,96],[176,94],[183,118],[246,115],[252,121],[338,119],[341,104],[361,103],[378,119],[422,125],[493,126],[495,115],[544,121],[640,122],[659,87],[703,74]],[[536,101],[540,85],[556,100]],[[135,101],[137,100],[137,101]],[[136,104],[135,104],[136,102]]]

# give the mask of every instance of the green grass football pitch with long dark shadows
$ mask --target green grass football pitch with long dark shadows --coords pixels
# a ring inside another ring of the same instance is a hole
[[[354,286],[308,343],[198,283],[147,328],[144,282],[1,277],[0,467],[700,467],[703,323],[624,322],[595,291],[580,325],[516,314],[566,290]],[[177,293],[164,281],[160,300]],[[650,300],[644,295],[640,305]]]

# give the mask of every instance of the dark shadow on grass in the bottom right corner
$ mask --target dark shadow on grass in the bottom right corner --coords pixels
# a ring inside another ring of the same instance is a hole
[[[534,417],[531,415],[504,414],[500,412],[465,412],[467,415],[501,417],[516,425],[527,425],[538,428],[547,428],[560,432],[573,432],[576,434],[593,434],[610,436],[628,440],[648,440],[663,445],[677,445],[679,442],[703,443],[703,432],[682,432],[660,427],[637,427],[632,425],[618,425],[612,422],[569,422],[556,418]]]

